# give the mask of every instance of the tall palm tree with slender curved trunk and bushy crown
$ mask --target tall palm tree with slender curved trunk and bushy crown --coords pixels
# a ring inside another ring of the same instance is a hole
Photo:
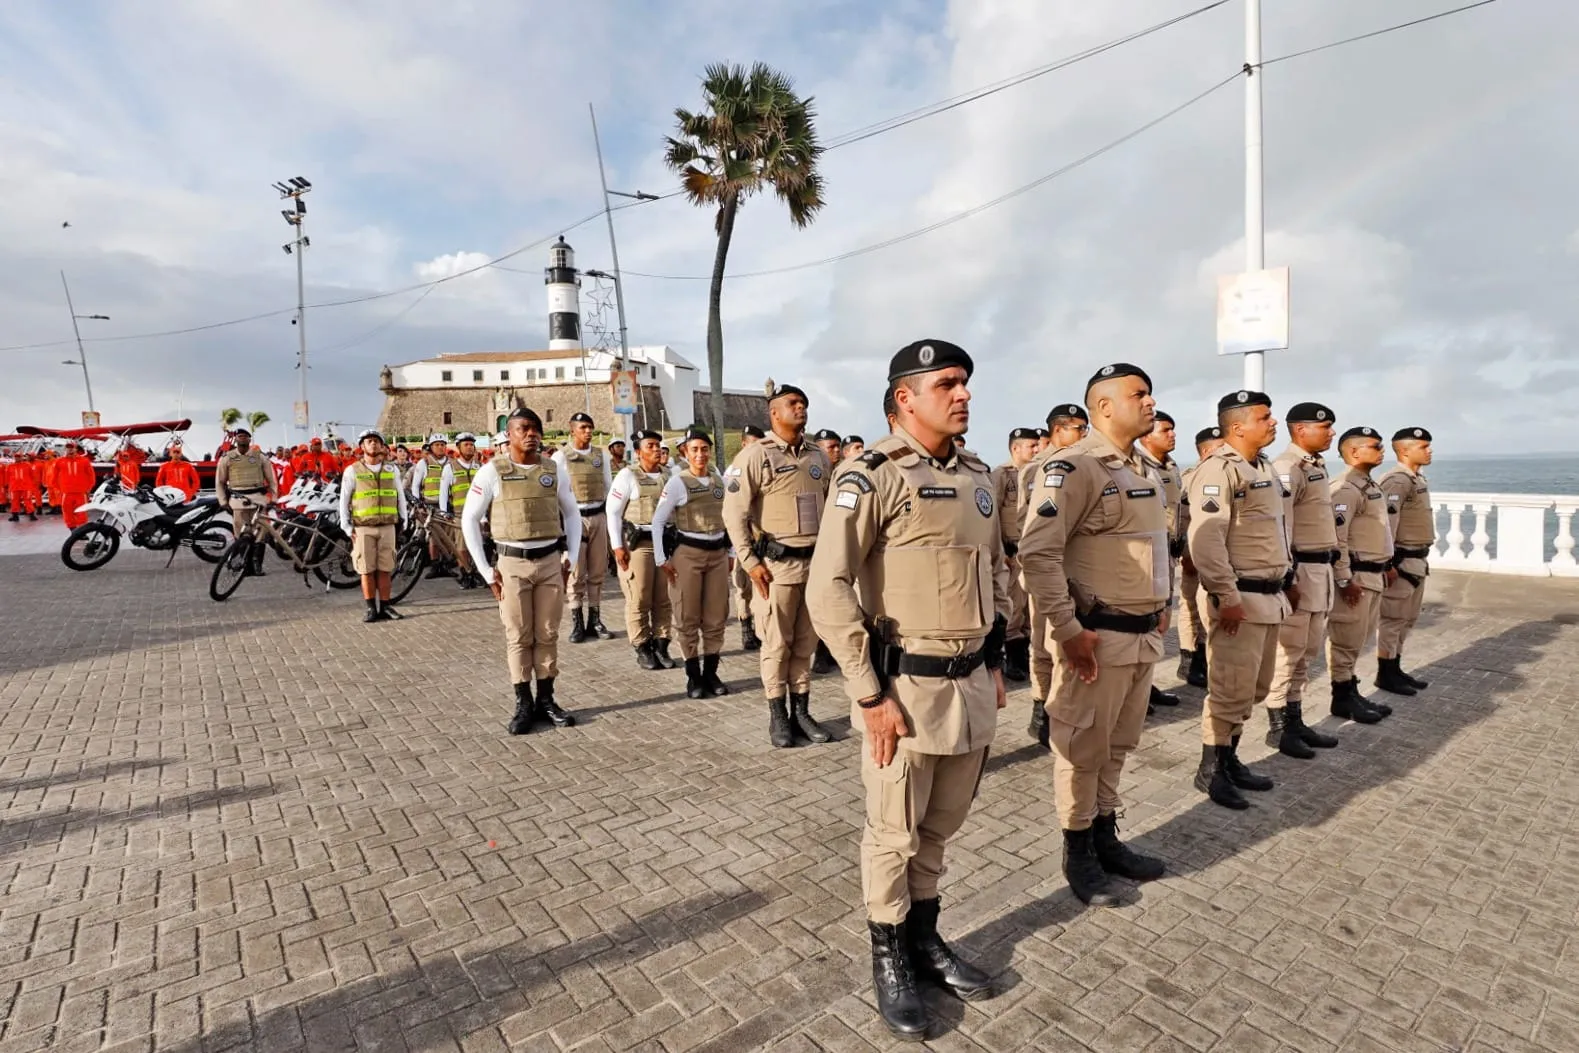
[[[805,227],[823,208],[823,175],[816,161],[816,112],[810,98],[794,92],[794,81],[766,63],[750,69],[714,63],[703,71],[704,109],[674,111],[679,134],[668,137],[665,163],[681,177],[693,205],[717,208],[707,294],[707,380],[712,390],[714,448],[723,448],[723,267],[734,235],[734,218],[752,194],[772,188],[790,210],[790,221]]]

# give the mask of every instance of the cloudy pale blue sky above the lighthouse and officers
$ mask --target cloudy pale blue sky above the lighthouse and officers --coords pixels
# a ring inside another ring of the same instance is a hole
[[[295,393],[294,260],[270,183],[305,175],[314,422],[371,422],[382,363],[546,343],[561,230],[608,267],[587,103],[611,185],[663,193],[662,139],[709,62],[766,60],[816,98],[824,139],[998,82],[1205,0],[9,0],[0,5],[0,431],[85,409],[60,272],[106,418],[224,406],[278,422]],[[1265,13],[1268,58],[1457,0]],[[1579,5],[1500,0],[1265,73],[1266,260],[1293,268],[1279,406],[1431,426],[1446,453],[1576,450]],[[826,155],[827,208],[794,230],[753,200],[731,270],[818,260],[988,202],[1243,63],[1240,0],[1090,62]],[[1568,99],[1566,103],[1563,99]],[[1216,275],[1244,259],[1243,85],[1067,175],[936,232],[725,287],[726,384],[793,379],[813,426],[878,429],[894,349],[977,362],[973,445],[1078,398],[1105,362],[1151,369],[1194,431],[1240,387],[1216,357]],[[703,363],[711,218],[616,216],[632,343]],[[62,226],[69,223],[69,226]],[[183,336],[104,339],[270,314]],[[264,436],[283,442],[283,426]]]

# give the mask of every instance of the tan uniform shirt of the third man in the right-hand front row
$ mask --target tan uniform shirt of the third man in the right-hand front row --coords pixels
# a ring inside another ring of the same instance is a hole
[[[1230,445],[1195,466],[1189,480],[1189,554],[1217,606],[1244,606],[1246,620],[1277,625],[1288,616],[1282,592],[1240,592],[1238,581],[1279,581],[1288,573],[1282,485],[1271,463],[1246,461]]]

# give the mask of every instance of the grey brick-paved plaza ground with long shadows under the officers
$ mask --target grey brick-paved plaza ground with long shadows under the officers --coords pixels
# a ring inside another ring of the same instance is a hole
[[[621,635],[562,647],[578,728],[513,739],[486,594],[365,627],[276,560],[213,603],[188,553],[82,575],[63,534],[0,524],[46,549],[0,554],[0,1053],[897,1045],[835,679],[840,740],[772,750],[733,625],[706,701]],[[1257,715],[1246,813],[1191,788],[1181,688],[1124,785],[1168,876],[1108,911],[1012,691],[943,892],[1006,990],[935,998],[932,1048],[1579,1050],[1579,583],[1438,573],[1408,665],[1429,691],[1317,761]]]

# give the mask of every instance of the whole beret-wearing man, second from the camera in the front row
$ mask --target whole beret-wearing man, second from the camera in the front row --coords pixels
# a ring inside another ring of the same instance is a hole
[[[1173,568],[1162,478],[1137,447],[1153,428],[1151,377],[1102,366],[1086,406],[1094,431],[1039,463],[1020,559],[1061,652],[1047,717],[1064,878],[1082,903],[1116,906],[1110,875],[1162,876],[1162,860],[1118,840],[1118,783],[1146,721]]]

